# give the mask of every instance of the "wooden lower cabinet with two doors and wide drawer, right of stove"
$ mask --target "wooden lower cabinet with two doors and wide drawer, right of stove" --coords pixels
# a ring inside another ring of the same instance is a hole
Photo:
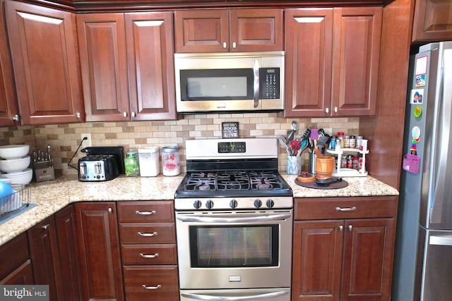
[[[396,214],[397,203],[393,202],[397,198],[370,197],[362,202],[358,198],[347,199],[317,199],[315,210],[323,208],[328,212],[333,207],[338,214],[352,218],[337,219],[337,214],[333,214],[333,219],[312,220],[299,220],[297,211],[302,208],[309,211],[314,199],[306,199],[306,207],[302,199],[296,200],[292,301],[390,300],[396,235],[396,219],[391,215]],[[381,218],[367,218],[367,206],[386,207],[381,210],[386,212],[393,210]],[[318,212],[312,214],[319,216]],[[309,216],[309,212],[299,214],[302,215]]]

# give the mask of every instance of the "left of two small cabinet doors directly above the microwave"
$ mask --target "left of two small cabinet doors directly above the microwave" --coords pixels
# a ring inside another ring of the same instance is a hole
[[[174,12],[176,52],[229,51],[229,20],[225,9]]]

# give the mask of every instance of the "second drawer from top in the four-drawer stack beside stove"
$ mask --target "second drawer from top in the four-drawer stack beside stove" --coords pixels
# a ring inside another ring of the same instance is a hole
[[[176,243],[174,223],[120,223],[121,243]]]

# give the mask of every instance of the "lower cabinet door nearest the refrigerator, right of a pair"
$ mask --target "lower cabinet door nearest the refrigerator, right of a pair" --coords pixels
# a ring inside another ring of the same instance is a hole
[[[345,222],[341,300],[390,300],[395,224],[395,219]]]

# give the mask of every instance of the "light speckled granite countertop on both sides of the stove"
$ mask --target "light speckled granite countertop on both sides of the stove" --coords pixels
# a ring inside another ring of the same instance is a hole
[[[66,205],[81,201],[145,201],[174,199],[174,192],[184,175],[165,177],[120,176],[107,182],[79,182],[76,176],[32,183],[30,203],[35,207],[0,225],[0,245],[27,231],[35,224],[56,213]],[[319,190],[295,184],[296,176],[283,174],[294,197],[359,197],[398,195],[398,190],[371,176],[344,178],[345,188]]]

